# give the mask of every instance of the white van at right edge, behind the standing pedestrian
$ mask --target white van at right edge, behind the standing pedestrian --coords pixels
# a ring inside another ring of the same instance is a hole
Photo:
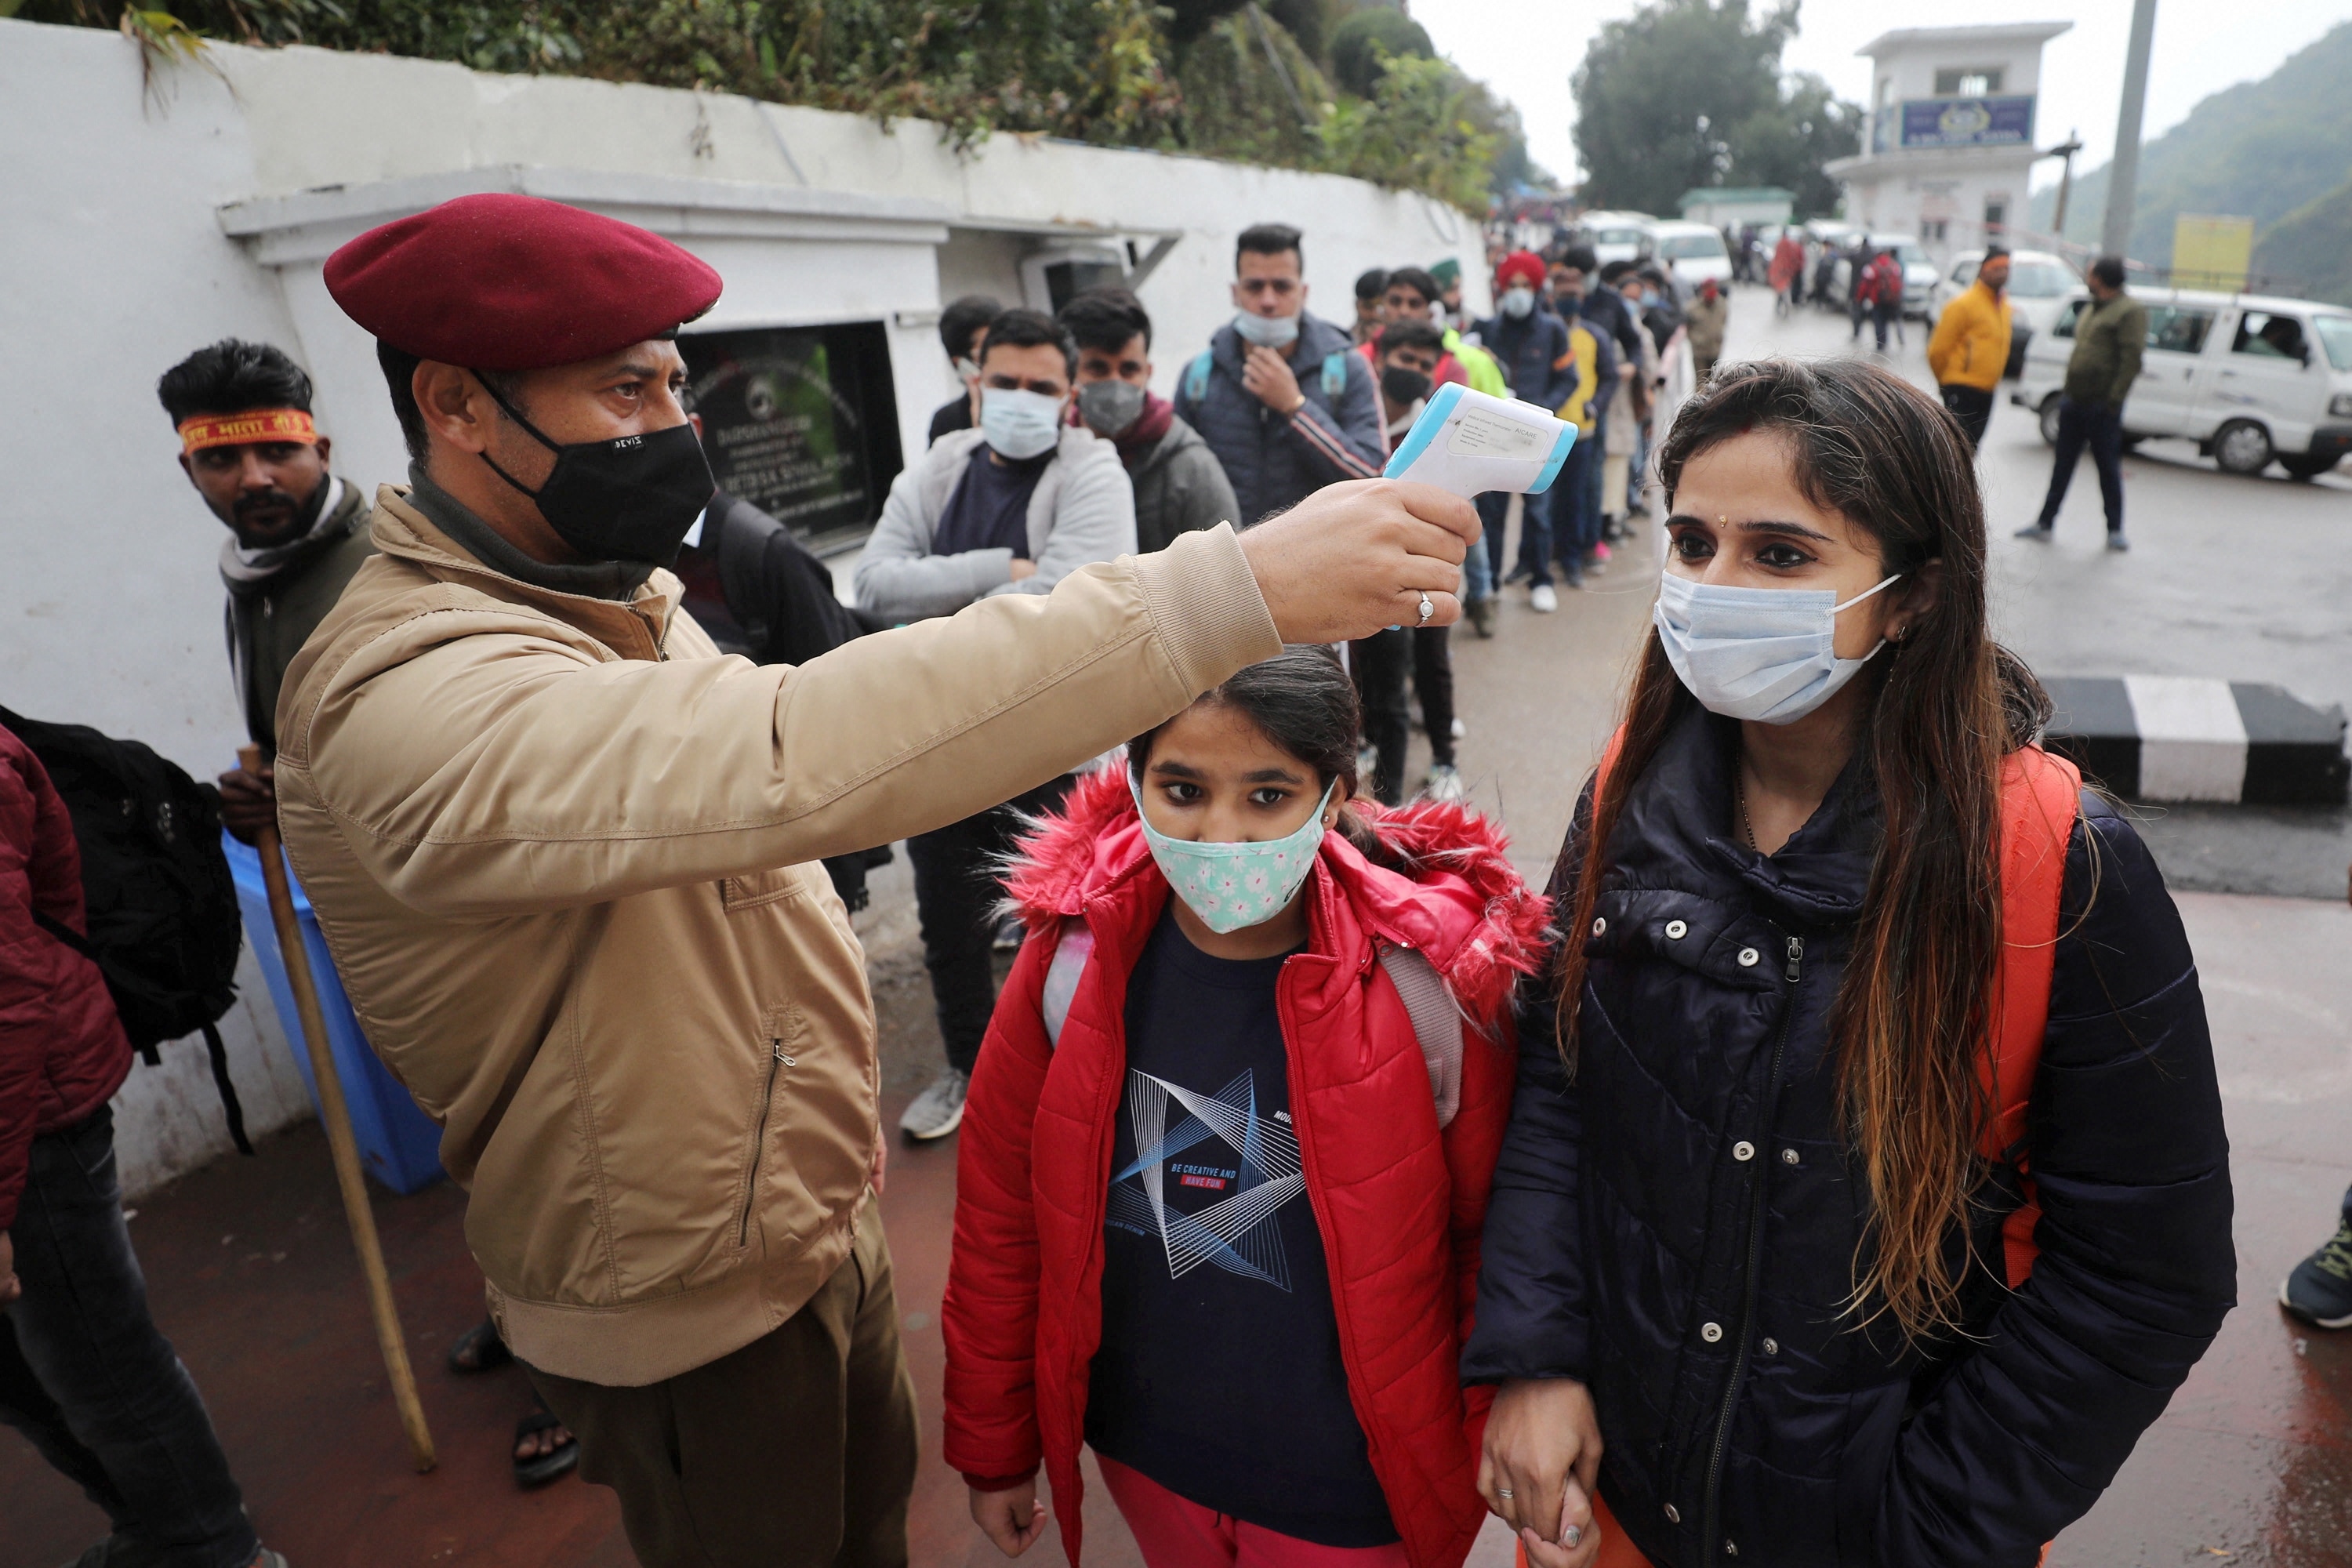
[[[2131,289],[2147,306],[2140,378],[2124,400],[2124,440],[2185,437],[2223,470],[2258,475],[2279,463],[2298,480],[2352,451],[2352,310],[2307,299]],[[2025,346],[2009,402],[2042,416],[2058,440],[2058,388],[2074,353],[2074,317],[2089,294]]]

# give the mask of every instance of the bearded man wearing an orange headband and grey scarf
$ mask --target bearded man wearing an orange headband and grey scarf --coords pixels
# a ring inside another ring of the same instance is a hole
[[[310,423],[310,376],[268,343],[221,339],[174,364],[155,395],[179,428],[179,465],[228,524],[228,665],[245,729],[278,755],[278,686],[343,583],[374,545],[367,494],[327,473],[329,442]],[[278,820],[270,766],[221,773],[221,823],[245,839]]]

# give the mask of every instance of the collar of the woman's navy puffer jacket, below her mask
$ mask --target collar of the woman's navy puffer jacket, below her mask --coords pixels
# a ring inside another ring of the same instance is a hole
[[[1733,783],[1740,726],[1691,703],[1635,783],[1609,835],[1611,879],[1686,886],[1715,898],[1752,896],[1804,924],[1863,912],[1877,858],[1877,799],[1856,752],[1811,820],[1773,856],[1745,844]]]

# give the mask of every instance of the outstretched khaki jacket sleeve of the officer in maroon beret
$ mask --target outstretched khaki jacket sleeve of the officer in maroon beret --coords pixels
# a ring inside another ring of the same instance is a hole
[[[433,614],[437,637],[412,621],[318,672],[301,750],[386,891],[480,919],[941,827],[1282,651],[1232,529],[797,668],[597,658],[503,609]]]

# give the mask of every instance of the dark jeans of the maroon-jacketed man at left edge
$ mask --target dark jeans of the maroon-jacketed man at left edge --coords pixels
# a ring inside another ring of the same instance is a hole
[[[148,1316],[113,1110],[33,1140],[9,1241],[24,1295],[0,1312],[0,1422],[106,1512],[111,1563],[252,1563],[261,1542],[212,1415]]]

